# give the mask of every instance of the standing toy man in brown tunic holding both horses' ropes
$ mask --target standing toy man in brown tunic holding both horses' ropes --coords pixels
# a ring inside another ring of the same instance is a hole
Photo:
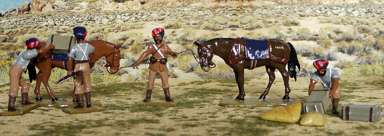
[[[173,102],[169,94],[169,84],[168,84],[168,68],[167,68],[167,58],[166,54],[171,55],[172,57],[177,57],[177,52],[173,52],[168,45],[162,44],[164,37],[163,28],[155,28],[152,30],[152,37],[155,40],[155,44],[149,45],[149,47],[144,51],[139,59],[134,63],[133,68],[139,66],[139,64],[146,58],[149,54],[152,54],[152,57],[149,58],[149,80],[147,84],[147,96],[143,102],[149,102],[151,100],[152,89],[154,87],[156,74],[160,75],[162,88],[164,89],[164,96],[166,101]]]

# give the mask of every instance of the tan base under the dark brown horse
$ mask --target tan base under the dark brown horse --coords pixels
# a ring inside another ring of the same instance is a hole
[[[301,102],[301,100],[295,98],[290,98],[289,100],[283,100],[281,98],[265,98],[259,100],[258,98],[248,98],[245,100],[224,99],[218,105],[222,107],[273,107]]]

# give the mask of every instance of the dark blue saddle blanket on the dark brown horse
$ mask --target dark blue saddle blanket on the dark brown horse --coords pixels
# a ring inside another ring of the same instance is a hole
[[[266,60],[268,58],[267,39],[245,39],[245,56],[247,60]]]

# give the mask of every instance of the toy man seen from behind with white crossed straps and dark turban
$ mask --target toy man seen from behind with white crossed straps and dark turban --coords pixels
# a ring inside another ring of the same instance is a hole
[[[87,107],[91,107],[91,71],[89,68],[89,54],[94,52],[94,47],[88,43],[85,43],[85,37],[87,36],[87,30],[84,27],[76,26],[73,28],[73,34],[76,37],[77,44],[71,47],[68,53],[68,74],[72,71],[74,62],[74,72],[83,71],[81,76],[75,76],[73,79],[75,95],[78,100],[78,105],[73,108],[83,108],[85,93],[85,100]],[[84,87],[84,89],[82,88]]]

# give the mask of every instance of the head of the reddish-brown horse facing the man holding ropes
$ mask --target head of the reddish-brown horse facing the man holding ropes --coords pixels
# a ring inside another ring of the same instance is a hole
[[[107,63],[105,67],[110,67],[111,74],[116,74],[119,71],[120,66],[120,47],[124,43],[120,43],[113,47],[113,52],[109,53],[109,55],[105,56]]]

